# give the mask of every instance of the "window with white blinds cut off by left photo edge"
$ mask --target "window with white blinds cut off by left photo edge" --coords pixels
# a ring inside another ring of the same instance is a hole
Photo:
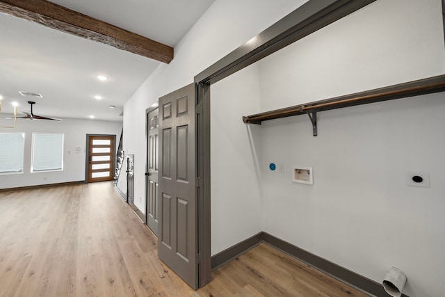
[[[23,173],[24,133],[0,133],[0,174]]]

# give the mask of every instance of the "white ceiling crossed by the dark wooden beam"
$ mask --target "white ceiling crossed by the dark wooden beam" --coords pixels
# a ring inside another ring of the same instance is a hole
[[[213,1],[52,2],[175,47]],[[29,111],[27,102],[34,101],[36,115],[120,121],[124,103],[160,63],[3,13],[0,27],[0,118],[13,111],[12,102],[19,104],[18,111]],[[109,80],[97,80],[98,74]],[[19,91],[43,98],[24,97]]]

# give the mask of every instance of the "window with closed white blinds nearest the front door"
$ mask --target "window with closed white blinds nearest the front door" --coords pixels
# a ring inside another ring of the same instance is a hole
[[[33,133],[31,172],[63,170],[63,134]]]

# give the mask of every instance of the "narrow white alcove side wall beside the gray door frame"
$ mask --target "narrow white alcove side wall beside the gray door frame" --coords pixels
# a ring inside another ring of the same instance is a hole
[[[262,231],[260,127],[241,121],[259,112],[258,74],[252,65],[211,86],[212,255]]]

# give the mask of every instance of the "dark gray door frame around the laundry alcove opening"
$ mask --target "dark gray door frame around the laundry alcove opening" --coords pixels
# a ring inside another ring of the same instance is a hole
[[[199,287],[211,281],[210,86],[375,0],[309,0],[265,31],[197,74]],[[241,120],[241,119],[240,119]]]

